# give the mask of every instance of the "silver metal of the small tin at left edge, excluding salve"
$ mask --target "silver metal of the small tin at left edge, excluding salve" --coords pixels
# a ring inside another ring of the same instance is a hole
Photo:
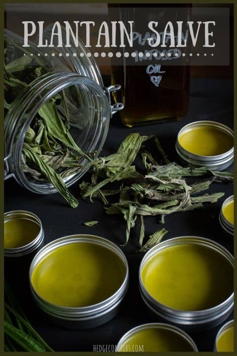
[[[37,225],[40,226],[40,232],[33,241],[31,241],[25,246],[11,248],[11,249],[4,248],[4,257],[22,257],[22,256],[30,255],[36,252],[37,250],[39,250],[40,247],[42,247],[43,245],[44,232],[43,232],[42,223],[37,215],[26,210],[13,210],[4,214],[4,223],[15,219],[30,220],[33,223],[36,223]]]

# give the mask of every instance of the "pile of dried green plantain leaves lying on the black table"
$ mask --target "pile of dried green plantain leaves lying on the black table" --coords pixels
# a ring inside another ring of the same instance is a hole
[[[126,222],[128,242],[130,229],[140,220],[139,251],[146,251],[157,244],[167,232],[165,228],[155,232],[143,245],[145,237],[144,216],[161,216],[186,212],[203,207],[203,203],[215,203],[224,195],[223,192],[200,194],[207,190],[213,181],[233,182],[232,172],[214,172],[205,167],[183,168],[170,163],[160,146],[158,138],[155,143],[165,165],[159,165],[150,152],[141,152],[144,170],[138,172],[134,160],[142,145],[153,136],[130,134],[121,143],[118,151],[108,157],[97,158],[93,163],[91,182],[80,183],[81,196],[100,198],[106,205],[107,214],[122,214]],[[205,180],[189,184],[188,177],[206,176]],[[102,189],[108,183],[121,181],[118,189]],[[109,204],[107,198],[118,195],[118,202]]]

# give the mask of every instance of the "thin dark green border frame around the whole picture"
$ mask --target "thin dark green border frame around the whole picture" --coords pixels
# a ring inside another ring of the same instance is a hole
[[[117,0],[117,1],[112,1],[112,0],[100,0],[100,1],[83,1],[83,0],[69,0],[68,2],[70,3],[172,3],[174,5],[176,4],[182,4],[182,3],[195,3],[195,4],[233,4],[234,5],[234,130],[236,130],[236,125],[237,125],[237,0],[181,0],[181,1],[175,1],[175,0],[149,0],[149,1],[144,1],[144,0]],[[2,9],[1,11],[1,16],[0,16],[0,20],[3,24],[4,27],[4,4],[7,3],[65,3],[65,0],[50,0],[50,1],[46,1],[46,0],[23,0],[23,1],[14,1],[14,0],[8,0],[8,1],[4,1],[1,2],[0,7]],[[3,31],[0,33],[0,42],[2,44],[2,48],[3,48]],[[3,57],[2,57],[3,58]],[[2,66],[3,68],[3,66]],[[1,70],[1,83],[3,83],[3,70]],[[3,86],[1,85],[0,87],[0,91],[1,91],[1,99],[0,99],[0,103],[1,103],[1,108],[2,108],[2,117],[4,117],[4,113],[3,113]],[[2,142],[0,145],[0,153],[2,155],[2,158],[4,157],[4,140],[3,140],[3,132],[4,132],[4,120],[0,121],[0,132],[2,133]],[[235,135],[235,148],[237,147],[237,136]],[[2,176],[3,176],[3,172],[4,170],[1,171],[2,172]],[[234,175],[235,178],[237,177],[237,165],[235,164],[234,167]],[[234,183],[234,194],[236,191],[236,187],[237,184],[236,182]],[[2,223],[0,224],[0,235],[3,236],[3,212],[4,212],[4,181],[1,182],[0,185],[0,198],[2,203],[0,204],[0,213],[2,216]],[[237,221],[237,209],[236,209],[236,204],[235,204],[235,221]],[[236,224],[235,224],[236,225]],[[237,231],[235,231],[235,236],[234,236],[234,256],[237,256],[237,244],[235,243],[235,239],[237,236]],[[0,276],[1,276],[1,280],[3,280],[3,272],[4,272],[4,258],[3,258],[3,239],[1,240],[1,259],[0,259]],[[235,262],[235,269],[237,269],[237,263]],[[3,286],[3,283],[2,283]],[[235,278],[234,281],[234,290],[237,290],[237,278]],[[3,306],[3,301],[4,301],[4,291],[3,288],[1,288],[1,293],[0,293],[0,314],[1,314],[1,320],[3,320],[4,318],[4,306]],[[236,298],[235,298],[235,302],[236,302]],[[234,306],[234,313],[235,315],[237,315],[237,305],[235,303]],[[200,356],[234,356],[237,355],[237,317],[235,317],[235,352],[233,353],[216,353],[216,352],[198,352],[198,354]],[[19,356],[31,356],[31,355],[60,355],[60,356],[95,356],[95,355],[103,355],[103,356],[114,356],[114,355],[122,355],[121,353],[95,353],[95,352],[45,352],[45,353],[35,353],[35,352],[3,352],[3,345],[4,345],[4,333],[3,333],[3,328],[2,328],[2,332],[0,333],[0,345],[2,345],[2,352],[0,353],[1,355],[4,356],[15,356],[15,355],[19,355]],[[167,355],[167,356],[193,356],[195,355],[195,353],[176,353],[176,352],[169,352],[169,353],[126,353],[126,355],[138,355],[138,356],[146,356],[146,355],[159,355],[159,356],[163,356],[163,355]]]

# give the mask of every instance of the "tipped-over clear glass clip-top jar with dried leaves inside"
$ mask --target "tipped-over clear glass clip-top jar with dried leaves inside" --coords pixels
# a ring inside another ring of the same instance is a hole
[[[49,38],[47,27],[43,38]],[[63,31],[63,41],[66,33]],[[100,70],[79,41],[74,47],[24,47],[4,32],[4,179],[14,177],[35,193],[59,191],[73,206],[67,187],[99,155],[119,85],[104,88]]]

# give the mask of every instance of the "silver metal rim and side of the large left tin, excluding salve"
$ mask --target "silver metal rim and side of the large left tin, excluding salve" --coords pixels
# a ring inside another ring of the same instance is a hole
[[[96,244],[114,252],[120,258],[122,264],[125,267],[125,277],[122,285],[119,287],[117,292],[113,294],[110,298],[98,304],[79,308],[56,306],[41,298],[40,295],[35,291],[31,283],[32,272],[36,265],[40,262],[40,260],[48,253],[58,247],[77,242],[88,242]],[[128,264],[125,255],[116,244],[103,237],[95,235],[65,236],[45,245],[33,259],[30,267],[29,276],[33,298],[35,299],[38,306],[46,314],[48,314],[52,322],[56,323],[59,326],[70,329],[96,327],[112,319],[118,313],[120,303],[122,302],[128,288]]]

